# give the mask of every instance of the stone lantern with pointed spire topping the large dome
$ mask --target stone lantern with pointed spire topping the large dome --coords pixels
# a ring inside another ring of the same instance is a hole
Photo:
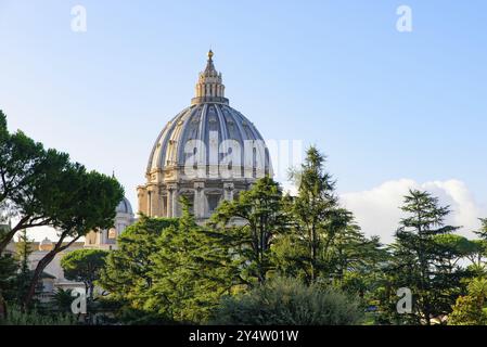
[[[214,52],[209,50],[207,55],[208,60],[206,62],[205,70],[200,73],[195,87],[196,95],[191,100],[191,103],[219,102],[228,104],[228,99],[225,98],[225,86],[221,73],[216,70],[213,63]]]

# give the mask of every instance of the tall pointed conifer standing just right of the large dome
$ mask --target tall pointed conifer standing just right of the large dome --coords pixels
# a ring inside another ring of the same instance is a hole
[[[291,178],[298,195],[285,205],[292,218],[290,233],[273,245],[277,272],[371,300],[380,264],[387,257],[379,237],[366,237],[353,214],[339,207],[325,157],[316,147],[307,151],[305,163]]]

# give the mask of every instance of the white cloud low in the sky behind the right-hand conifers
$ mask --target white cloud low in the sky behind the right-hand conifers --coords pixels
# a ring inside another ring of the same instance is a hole
[[[476,202],[466,184],[459,180],[418,183],[410,179],[387,181],[369,191],[341,195],[345,207],[354,211],[358,223],[368,235],[379,235],[384,243],[393,241],[400,218],[399,206],[409,189],[426,190],[438,196],[441,205],[450,205],[452,214],[447,220],[453,226],[463,227],[459,233],[473,236],[472,231],[479,228],[479,217],[487,211]]]

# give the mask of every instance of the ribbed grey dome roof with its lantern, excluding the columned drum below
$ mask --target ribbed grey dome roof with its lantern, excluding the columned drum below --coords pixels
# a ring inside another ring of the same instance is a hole
[[[256,160],[261,163],[260,167],[266,174],[271,172],[269,152],[264,139],[252,121],[230,107],[228,99],[225,98],[221,73],[215,69],[213,55],[209,51],[207,65],[205,70],[200,73],[196,97],[193,98],[191,106],[174,117],[158,134],[149,157],[148,174],[188,165],[195,157],[198,165],[213,165],[214,155],[210,155],[210,149],[215,147],[216,151],[222,149],[225,154],[240,147],[239,166],[242,167],[242,174],[244,169],[252,169]],[[193,143],[202,143],[204,146]],[[248,143],[255,145],[255,150],[251,150],[255,153],[249,157],[244,155],[245,145]],[[229,147],[231,150],[228,150]],[[221,155],[217,153],[217,156]],[[258,159],[255,156],[258,156]],[[233,165],[234,162],[236,160],[232,160]]]

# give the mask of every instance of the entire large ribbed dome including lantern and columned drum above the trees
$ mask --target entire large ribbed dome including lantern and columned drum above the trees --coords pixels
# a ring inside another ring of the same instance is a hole
[[[137,188],[138,210],[146,216],[180,217],[184,196],[203,222],[222,201],[272,176],[269,150],[255,126],[230,107],[213,56],[209,51],[190,106],[167,123],[151,151],[146,183]]]

